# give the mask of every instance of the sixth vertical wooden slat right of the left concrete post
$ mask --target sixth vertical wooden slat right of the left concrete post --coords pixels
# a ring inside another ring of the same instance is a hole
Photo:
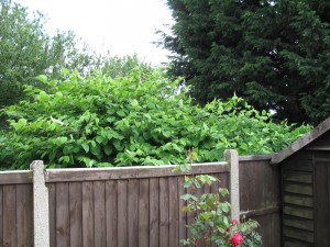
[[[117,247],[117,181],[106,182],[107,247]]]

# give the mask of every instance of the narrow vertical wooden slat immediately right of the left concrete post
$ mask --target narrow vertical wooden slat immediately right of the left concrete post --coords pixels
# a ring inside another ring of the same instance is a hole
[[[47,183],[50,205],[50,244],[56,247],[56,184]]]

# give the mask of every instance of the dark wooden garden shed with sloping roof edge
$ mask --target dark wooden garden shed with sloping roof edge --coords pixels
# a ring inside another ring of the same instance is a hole
[[[271,164],[282,170],[283,246],[330,246],[330,117]]]

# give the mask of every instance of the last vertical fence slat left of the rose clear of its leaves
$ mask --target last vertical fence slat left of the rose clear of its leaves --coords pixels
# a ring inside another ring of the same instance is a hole
[[[178,229],[178,184],[177,177],[169,177],[169,246],[178,247],[179,243],[179,229]]]

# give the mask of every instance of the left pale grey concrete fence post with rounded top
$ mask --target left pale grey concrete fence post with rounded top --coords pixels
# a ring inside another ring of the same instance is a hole
[[[30,165],[33,171],[33,221],[34,247],[50,246],[48,189],[44,177],[44,162],[35,160]]]

